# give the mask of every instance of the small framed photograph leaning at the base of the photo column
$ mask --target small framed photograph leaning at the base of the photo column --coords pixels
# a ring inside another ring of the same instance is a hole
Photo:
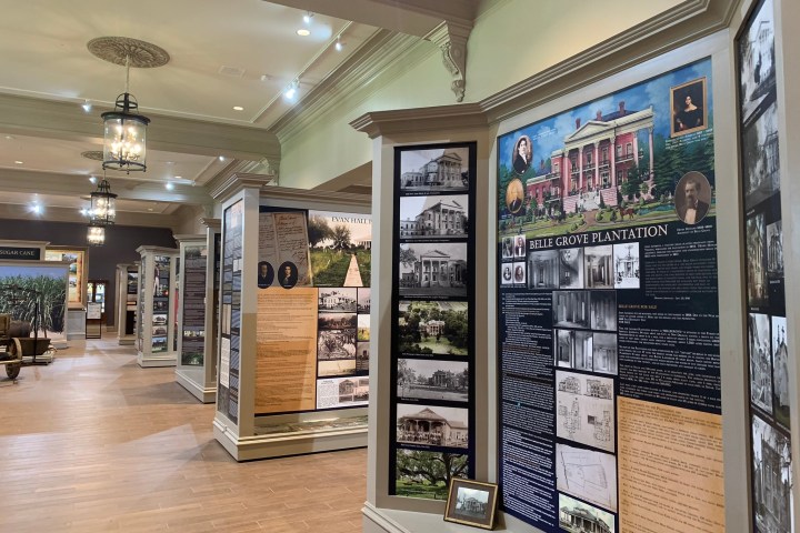
[[[493,529],[497,489],[496,483],[453,477],[450,481],[444,520],[483,530]]]

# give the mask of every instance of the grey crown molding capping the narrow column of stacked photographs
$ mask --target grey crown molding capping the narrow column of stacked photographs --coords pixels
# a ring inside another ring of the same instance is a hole
[[[379,135],[452,129],[486,128],[487,114],[478,103],[401,109],[364,113],[350,122],[370,139]]]

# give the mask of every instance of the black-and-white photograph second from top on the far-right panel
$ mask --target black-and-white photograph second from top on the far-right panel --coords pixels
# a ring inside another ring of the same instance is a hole
[[[744,209],[752,209],[780,190],[778,104],[763,110],[742,133]]]

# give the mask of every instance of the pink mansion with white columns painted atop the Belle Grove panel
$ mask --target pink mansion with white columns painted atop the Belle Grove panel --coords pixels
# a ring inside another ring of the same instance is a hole
[[[644,163],[640,130],[648,130],[650,154],[643,181],[652,185],[653,110],[629,111],[620,102],[617,111],[606,115],[598,111],[583,125],[576,120],[576,131],[564,138],[564,147],[550,154],[550,172],[527,181],[527,197],[539,208],[561,199],[568,213],[577,207],[598,209],[601,197],[606,205],[617,205],[617,190],[628,180],[628,171]]]

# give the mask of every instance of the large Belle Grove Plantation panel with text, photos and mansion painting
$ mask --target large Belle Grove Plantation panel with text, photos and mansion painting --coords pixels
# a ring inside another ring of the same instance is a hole
[[[721,41],[500,128],[498,481],[509,523],[726,530]]]

